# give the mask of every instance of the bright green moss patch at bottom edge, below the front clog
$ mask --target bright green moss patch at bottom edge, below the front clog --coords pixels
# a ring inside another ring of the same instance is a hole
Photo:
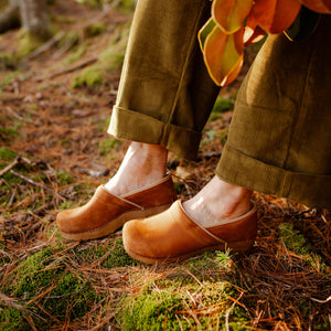
[[[162,282],[164,285],[164,280]],[[223,330],[224,314],[231,303],[228,296],[235,296],[234,292],[235,289],[224,281],[186,286],[169,281],[166,287],[153,282],[139,295],[122,300],[119,320],[122,330],[214,330],[217,324]],[[199,298],[199,306],[192,297]],[[248,320],[242,307],[229,312],[231,330],[244,330]]]

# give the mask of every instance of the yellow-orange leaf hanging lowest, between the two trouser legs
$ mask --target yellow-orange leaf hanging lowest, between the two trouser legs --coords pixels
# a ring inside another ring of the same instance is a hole
[[[217,25],[204,43],[204,62],[212,79],[224,86],[235,79],[243,65],[244,28],[233,34]]]

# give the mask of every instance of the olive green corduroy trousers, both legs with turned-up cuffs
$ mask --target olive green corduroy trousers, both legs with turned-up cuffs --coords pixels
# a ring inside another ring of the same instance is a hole
[[[220,88],[197,31],[207,0],[139,0],[108,132],[194,159]],[[218,178],[331,209],[331,17],[305,42],[270,35],[237,96]]]

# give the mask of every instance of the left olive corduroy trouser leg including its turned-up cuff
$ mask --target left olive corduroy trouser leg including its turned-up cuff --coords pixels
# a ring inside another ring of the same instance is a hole
[[[206,0],[138,1],[109,134],[196,157],[220,90],[197,43],[210,14]]]

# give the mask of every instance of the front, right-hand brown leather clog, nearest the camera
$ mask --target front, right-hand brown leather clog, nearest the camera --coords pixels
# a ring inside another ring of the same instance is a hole
[[[207,249],[248,250],[256,237],[256,209],[204,228],[185,213],[181,201],[158,215],[128,222],[122,229],[129,255],[143,263],[170,263]]]

